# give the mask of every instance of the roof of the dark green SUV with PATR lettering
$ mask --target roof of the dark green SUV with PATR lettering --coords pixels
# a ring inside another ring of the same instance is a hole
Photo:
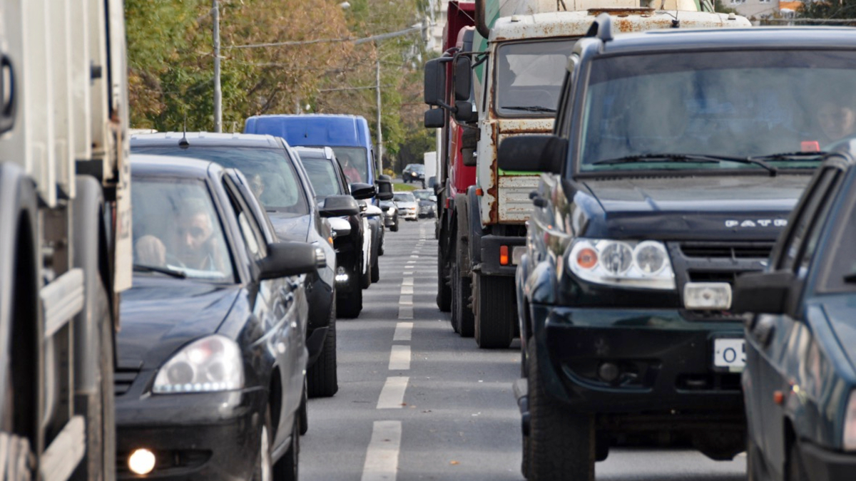
[[[601,52],[817,48],[856,49],[856,30],[852,27],[667,28],[615,35],[614,39],[603,43]]]

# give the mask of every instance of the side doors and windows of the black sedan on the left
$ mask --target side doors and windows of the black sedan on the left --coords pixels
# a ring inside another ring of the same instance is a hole
[[[269,239],[265,236],[263,222],[259,221],[257,211],[253,210],[241,187],[235,184],[229,175],[223,177],[223,187],[229,193],[235,217],[238,220],[241,237],[247,246],[247,251],[255,261],[267,256]],[[258,207],[258,206],[257,206]],[[256,295],[255,314],[264,319],[265,348],[279,372],[280,385],[283,393],[279,413],[271,413],[279,420],[276,426],[274,446],[280,445],[291,433],[289,415],[300,406],[303,392],[303,371],[306,368],[306,299],[303,294],[302,279],[299,276],[288,276],[265,281],[253,281],[257,285],[249,289]],[[301,314],[301,306],[302,314]],[[296,394],[293,394],[296,393]]]

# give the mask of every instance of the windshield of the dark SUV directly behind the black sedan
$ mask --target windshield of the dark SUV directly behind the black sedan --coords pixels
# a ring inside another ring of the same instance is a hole
[[[132,146],[132,150],[153,155],[202,158],[223,167],[240,169],[265,209],[300,215],[309,213],[303,187],[283,149],[223,145],[182,149],[176,145]]]

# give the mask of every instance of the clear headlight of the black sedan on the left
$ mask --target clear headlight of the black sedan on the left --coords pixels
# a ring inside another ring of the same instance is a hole
[[[244,387],[241,348],[224,336],[193,341],[175,353],[158,371],[156,394],[229,391]]]

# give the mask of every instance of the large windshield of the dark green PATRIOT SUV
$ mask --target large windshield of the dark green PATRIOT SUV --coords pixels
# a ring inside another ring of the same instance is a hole
[[[847,50],[596,60],[580,171],[814,167],[818,151],[856,135],[854,60]]]

